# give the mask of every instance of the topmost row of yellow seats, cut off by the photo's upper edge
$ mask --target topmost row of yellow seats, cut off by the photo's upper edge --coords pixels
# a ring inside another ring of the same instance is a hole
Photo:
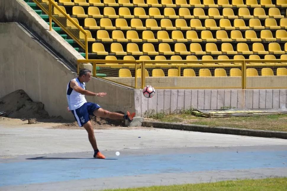
[[[243,0],[232,0],[229,4],[229,0],[217,0],[215,4],[214,0],[175,0],[175,4],[172,0],[161,0],[159,4],[158,0],[59,0],[59,4],[64,5],[80,5],[80,6],[124,6],[124,7],[287,7],[286,0],[276,0],[276,4],[272,3],[272,0],[261,0],[260,4],[257,3],[257,0],[246,0],[244,4]],[[202,2],[202,3],[201,3]]]

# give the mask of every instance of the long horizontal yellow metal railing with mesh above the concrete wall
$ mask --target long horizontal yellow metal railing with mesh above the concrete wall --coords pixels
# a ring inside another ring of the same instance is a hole
[[[287,60],[279,59],[78,60],[78,72],[81,68],[90,68],[94,77],[133,88],[146,85],[157,89],[287,88]]]

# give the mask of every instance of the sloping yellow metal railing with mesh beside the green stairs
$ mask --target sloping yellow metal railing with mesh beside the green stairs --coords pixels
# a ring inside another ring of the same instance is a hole
[[[86,53],[88,59],[88,34],[69,14],[53,0],[33,0],[47,15],[49,15],[50,30],[52,20],[59,25],[73,40],[75,40]]]

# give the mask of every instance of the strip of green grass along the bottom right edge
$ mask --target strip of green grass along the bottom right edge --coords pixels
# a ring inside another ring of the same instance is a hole
[[[220,181],[214,183],[182,184],[171,186],[153,186],[128,189],[115,189],[105,191],[285,191],[287,190],[287,178],[267,178],[267,179],[244,179],[236,181]]]

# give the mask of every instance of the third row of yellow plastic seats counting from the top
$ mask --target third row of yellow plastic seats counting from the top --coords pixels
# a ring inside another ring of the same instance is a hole
[[[76,20],[76,18],[73,18]],[[78,20],[77,20],[78,22]],[[287,29],[287,18],[280,19],[280,26],[277,25],[277,22],[273,19],[265,21],[265,26],[261,25],[259,19],[250,19],[249,26],[245,25],[244,20],[236,19],[234,20],[233,26],[231,25],[230,20],[228,19],[220,19],[219,27],[217,26],[215,20],[206,19],[204,21],[205,26],[202,26],[201,20],[199,19],[191,19],[188,20],[189,26],[185,19],[176,19],[175,26],[172,24],[170,19],[161,19],[160,25],[157,24],[155,19],[146,19],[145,26],[143,26],[143,22],[141,19],[131,19],[130,25],[128,22],[119,18],[115,20],[115,26],[112,24],[112,21],[109,18],[101,18],[100,26],[97,25],[96,20],[94,18],[86,18],[84,21],[84,27],[91,30],[249,30],[249,29]]]

